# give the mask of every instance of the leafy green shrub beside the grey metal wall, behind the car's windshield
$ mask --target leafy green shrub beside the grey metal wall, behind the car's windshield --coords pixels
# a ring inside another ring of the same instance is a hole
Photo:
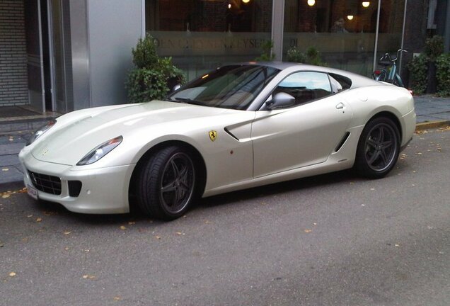
[[[158,57],[151,35],[139,39],[132,55],[136,67],[129,72],[125,83],[129,103],[161,100],[168,94],[170,79],[180,84],[185,82],[184,73],[172,64],[171,57]]]

